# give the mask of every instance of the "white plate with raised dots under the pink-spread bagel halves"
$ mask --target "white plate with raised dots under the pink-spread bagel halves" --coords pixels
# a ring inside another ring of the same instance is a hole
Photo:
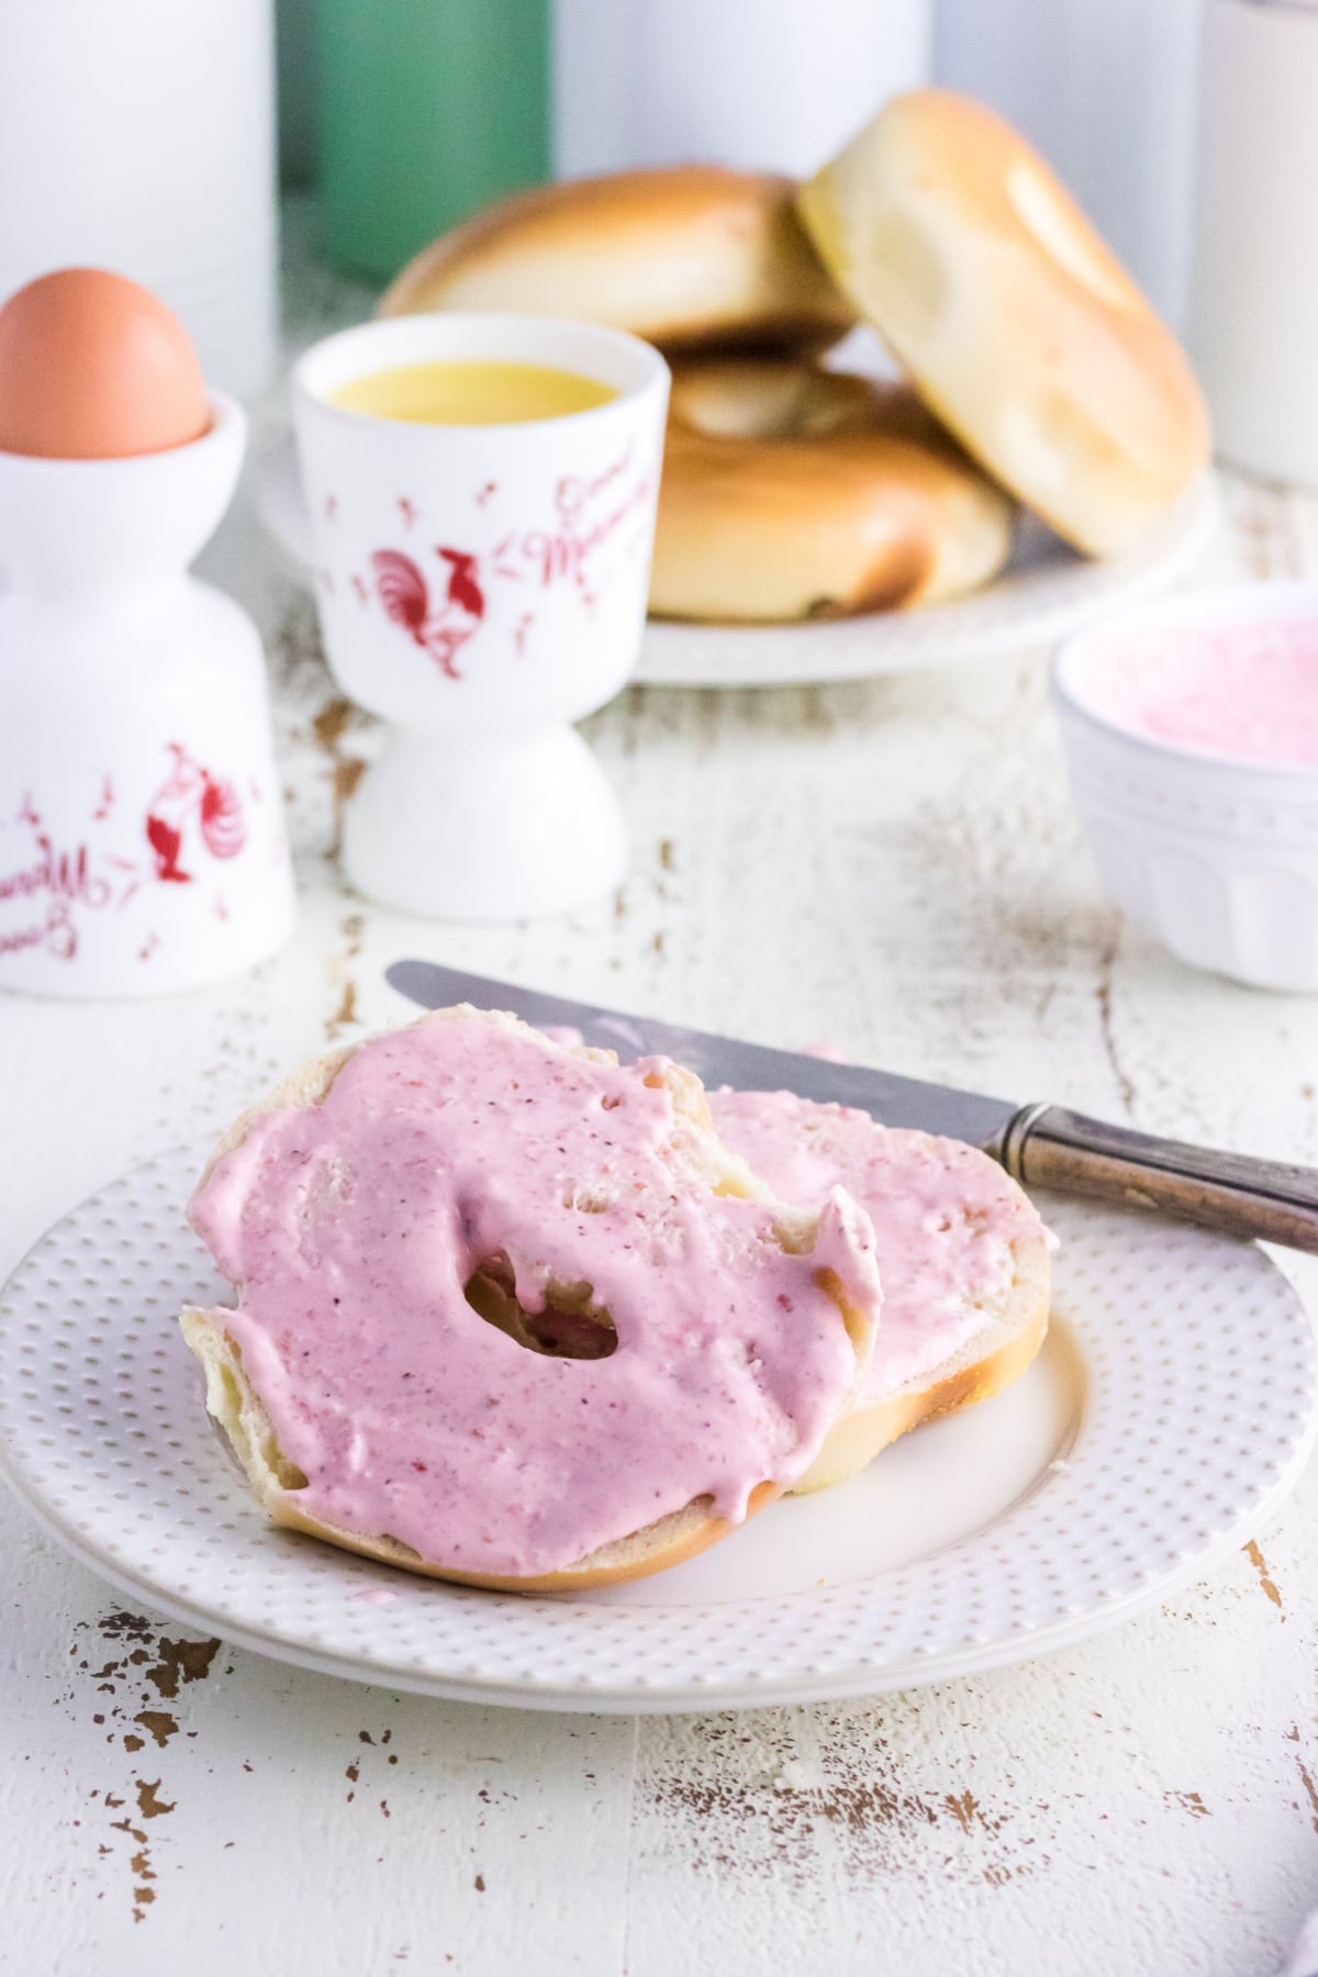
[[[522,1708],[865,1694],[1124,1619],[1257,1528],[1314,1439],[1308,1317],[1251,1244],[1049,1204],[1055,1323],[1008,1394],[703,1558],[524,1599],[273,1530],[202,1406],[176,1313],[227,1289],[182,1220],[200,1160],[59,1222],[0,1301],[0,1467],[77,1558],[306,1667]]]

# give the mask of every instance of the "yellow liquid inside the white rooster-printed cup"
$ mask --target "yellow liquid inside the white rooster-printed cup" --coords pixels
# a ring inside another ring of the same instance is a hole
[[[342,411],[413,425],[520,425],[607,405],[613,386],[549,364],[397,364],[328,393]]]

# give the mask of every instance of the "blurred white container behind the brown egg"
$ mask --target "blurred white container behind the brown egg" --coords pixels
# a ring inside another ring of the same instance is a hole
[[[202,370],[275,368],[271,0],[0,6],[0,301],[53,267],[162,299]]]

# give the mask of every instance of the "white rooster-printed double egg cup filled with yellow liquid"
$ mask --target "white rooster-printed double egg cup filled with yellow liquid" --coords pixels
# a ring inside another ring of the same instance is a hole
[[[512,425],[328,403],[352,378],[425,362],[553,366],[617,397]],[[589,322],[405,316],[316,344],[292,395],[328,660],[389,726],[348,807],[348,882],[456,921],[611,892],[622,817],[571,724],[640,656],[664,360]]]

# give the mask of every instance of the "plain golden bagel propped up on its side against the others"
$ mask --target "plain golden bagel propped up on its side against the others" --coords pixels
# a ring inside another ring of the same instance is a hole
[[[895,97],[798,208],[927,403],[1079,550],[1124,550],[1207,465],[1174,336],[982,103]]]

